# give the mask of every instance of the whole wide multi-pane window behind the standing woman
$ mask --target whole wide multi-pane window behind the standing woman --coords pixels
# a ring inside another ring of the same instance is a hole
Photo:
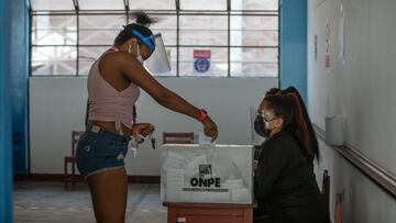
[[[151,29],[169,56],[165,76],[278,76],[278,0],[30,2],[32,76],[88,75],[136,9],[158,21]]]

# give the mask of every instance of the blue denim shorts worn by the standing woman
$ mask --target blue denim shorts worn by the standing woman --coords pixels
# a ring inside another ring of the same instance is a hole
[[[78,171],[87,178],[97,172],[123,168],[129,138],[102,129],[99,131],[92,129],[95,129],[92,124],[88,124],[78,141],[76,150]]]

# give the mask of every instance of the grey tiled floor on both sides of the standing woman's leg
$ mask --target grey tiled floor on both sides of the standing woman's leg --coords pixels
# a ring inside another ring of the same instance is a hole
[[[96,222],[88,186],[77,183],[65,191],[61,182],[15,182],[14,222]],[[165,223],[160,185],[130,185],[125,222]]]

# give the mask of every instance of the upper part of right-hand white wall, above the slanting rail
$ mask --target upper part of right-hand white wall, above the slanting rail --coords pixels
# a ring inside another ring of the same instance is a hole
[[[346,142],[396,172],[396,1],[309,1],[309,104],[312,120],[343,114]],[[345,10],[345,65],[339,59],[339,18]],[[324,27],[331,24],[331,69],[324,68]],[[318,60],[314,35],[318,35]]]

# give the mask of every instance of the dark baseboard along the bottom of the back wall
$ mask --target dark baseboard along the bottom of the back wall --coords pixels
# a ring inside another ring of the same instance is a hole
[[[82,176],[76,175],[76,178],[84,181]],[[63,182],[64,175],[61,174],[30,174],[30,175],[14,175],[14,181],[50,181],[50,182]],[[160,176],[128,176],[129,183],[160,183]]]

